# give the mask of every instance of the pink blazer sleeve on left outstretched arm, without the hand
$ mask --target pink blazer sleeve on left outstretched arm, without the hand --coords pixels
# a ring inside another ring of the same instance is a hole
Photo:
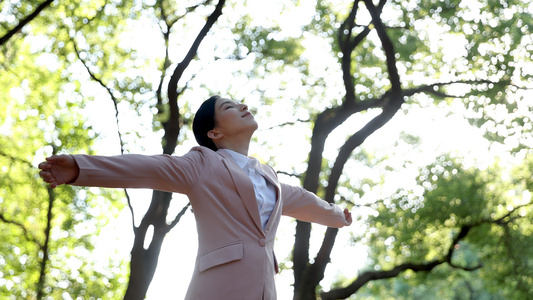
[[[109,188],[147,188],[187,193],[202,175],[206,159],[194,148],[184,156],[73,155],[80,168],[72,185]]]

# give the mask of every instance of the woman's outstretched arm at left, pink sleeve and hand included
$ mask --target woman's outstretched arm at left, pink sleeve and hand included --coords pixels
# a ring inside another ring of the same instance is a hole
[[[145,188],[187,193],[198,182],[207,159],[195,147],[183,156],[124,154],[58,155],[39,164],[39,174],[52,188],[61,184],[107,188]]]

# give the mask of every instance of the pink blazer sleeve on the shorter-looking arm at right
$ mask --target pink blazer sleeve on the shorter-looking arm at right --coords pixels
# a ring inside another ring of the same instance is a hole
[[[280,183],[283,197],[282,214],[300,221],[319,223],[329,227],[348,225],[339,206],[320,199],[301,187]]]

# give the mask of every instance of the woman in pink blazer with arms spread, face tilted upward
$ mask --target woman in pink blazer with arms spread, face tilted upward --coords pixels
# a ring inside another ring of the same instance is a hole
[[[331,227],[351,213],[248,157],[257,122],[244,104],[213,96],[198,109],[199,147],[184,156],[59,155],[39,164],[51,187],[61,184],[149,188],[186,194],[198,230],[198,254],[186,299],[276,299],[274,240],[280,216]]]

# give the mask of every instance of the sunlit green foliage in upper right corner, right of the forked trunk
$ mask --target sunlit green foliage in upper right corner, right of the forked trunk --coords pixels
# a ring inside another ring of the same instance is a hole
[[[405,69],[404,85],[415,86],[410,78],[420,75],[441,81],[486,80],[438,91],[463,97],[471,123],[484,128],[490,140],[515,145],[515,152],[530,148],[532,107],[526,101],[532,76],[527,71],[532,59],[530,4],[392,1],[390,9],[401,17],[388,21],[388,33]]]

